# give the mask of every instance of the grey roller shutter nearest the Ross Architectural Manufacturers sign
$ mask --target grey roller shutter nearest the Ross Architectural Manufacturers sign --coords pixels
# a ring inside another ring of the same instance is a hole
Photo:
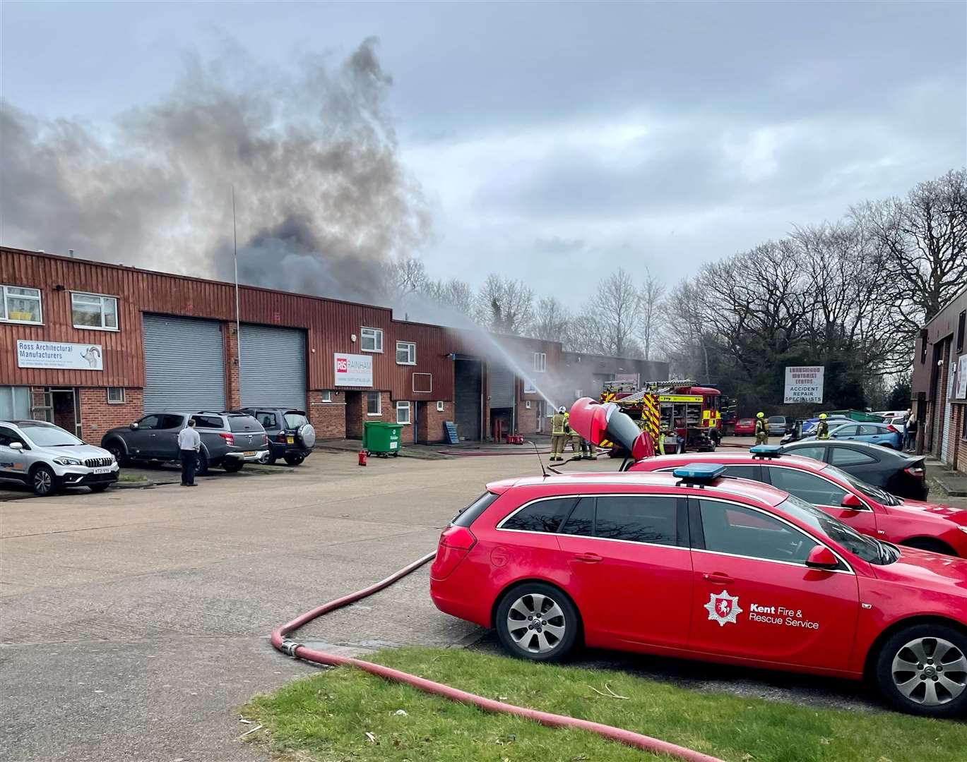
[[[217,321],[144,316],[144,411],[225,409]]]

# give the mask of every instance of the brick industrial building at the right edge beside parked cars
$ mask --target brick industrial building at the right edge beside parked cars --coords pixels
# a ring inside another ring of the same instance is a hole
[[[923,326],[914,353],[918,451],[967,471],[967,289]]]

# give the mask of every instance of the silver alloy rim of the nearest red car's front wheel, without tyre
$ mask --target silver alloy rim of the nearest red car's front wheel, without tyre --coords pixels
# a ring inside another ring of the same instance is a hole
[[[967,690],[967,656],[942,637],[918,637],[904,644],[891,673],[896,690],[924,708],[948,704]]]

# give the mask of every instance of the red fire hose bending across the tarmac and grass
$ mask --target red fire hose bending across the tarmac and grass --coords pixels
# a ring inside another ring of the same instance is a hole
[[[296,617],[291,622],[276,628],[272,631],[270,638],[272,645],[283,654],[290,656],[293,659],[303,659],[307,662],[329,664],[331,666],[355,666],[359,669],[369,672],[370,674],[382,677],[385,680],[395,680],[396,682],[405,683],[413,686],[414,688],[418,688],[421,691],[440,695],[444,698],[449,698],[452,701],[473,704],[474,706],[485,709],[488,712],[501,712],[507,715],[515,715],[516,717],[520,717],[525,720],[540,722],[542,725],[547,725],[549,727],[580,728],[591,733],[597,733],[603,738],[611,741],[617,741],[620,744],[625,744],[633,748],[640,748],[644,751],[651,751],[655,754],[667,754],[668,756],[675,757],[677,759],[684,759],[686,762],[722,762],[722,760],[718,759],[717,757],[712,757],[708,754],[703,754],[690,748],[669,744],[665,741],[659,741],[657,738],[651,738],[650,736],[635,733],[631,730],[625,730],[624,728],[614,727],[612,725],[604,725],[601,724],[601,722],[578,720],[577,718],[567,717],[566,715],[553,715],[548,712],[539,712],[536,709],[526,709],[525,707],[506,704],[503,701],[495,701],[492,698],[484,698],[484,696],[479,696],[475,693],[459,691],[458,689],[451,688],[450,686],[445,686],[442,683],[435,683],[432,680],[425,680],[425,678],[417,677],[416,675],[411,675],[407,672],[401,672],[398,669],[392,669],[391,667],[383,666],[382,664],[364,662],[360,659],[353,659],[351,657],[337,656],[336,654],[327,654],[322,651],[315,651],[311,648],[307,648],[302,643],[297,643],[295,640],[291,640],[286,637],[286,635],[298,630],[300,627],[308,622],[311,622],[318,616],[322,616],[330,611],[334,611],[337,608],[348,606],[349,604],[366,598],[373,593],[379,592],[384,587],[389,587],[391,584],[396,582],[396,580],[402,579],[408,574],[415,572],[427,561],[432,560],[433,556],[435,555],[435,552],[427,553],[423,558],[420,558],[411,564],[407,564],[398,572],[394,572],[386,579],[382,579],[375,584],[364,587],[362,590],[357,590],[355,593],[350,593],[349,595],[344,595],[341,598],[337,598],[335,601],[330,601],[328,604],[323,604],[320,607],[313,608],[312,610],[304,613],[302,616]]]

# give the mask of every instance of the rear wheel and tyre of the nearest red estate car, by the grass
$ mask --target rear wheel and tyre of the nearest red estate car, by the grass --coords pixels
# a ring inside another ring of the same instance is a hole
[[[497,606],[497,636],[510,653],[531,662],[557,662],[577,642],[577,609],[561,590],[526,582],[508,590]]]

